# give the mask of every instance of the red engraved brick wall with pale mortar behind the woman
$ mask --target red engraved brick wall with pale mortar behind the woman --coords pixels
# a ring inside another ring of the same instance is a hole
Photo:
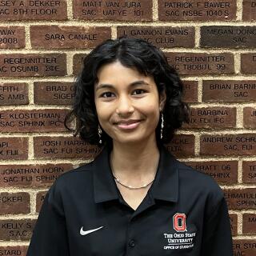
[[[26,255],[46,190],[98,153],[63,118],[83,56],[127,34],[182,75],[190,125],[167,147],[219,182],[234,255],[255,255],[255,20],[255,0],[0,1],[0,254]]]

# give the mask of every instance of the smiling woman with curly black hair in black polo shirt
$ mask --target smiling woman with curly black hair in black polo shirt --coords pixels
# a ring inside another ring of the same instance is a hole
[[[75,85],[75,134],[102,152],[46,194],[29,256],[231,256],[222,190],[163,146],[188,120],[182,82],[161,50],[107,40]]]

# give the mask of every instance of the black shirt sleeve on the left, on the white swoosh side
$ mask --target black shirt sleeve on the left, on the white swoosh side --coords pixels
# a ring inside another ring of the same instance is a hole
[[[51,186],[42,203],[26,256],[68,256],[66,219],[60,195]]]

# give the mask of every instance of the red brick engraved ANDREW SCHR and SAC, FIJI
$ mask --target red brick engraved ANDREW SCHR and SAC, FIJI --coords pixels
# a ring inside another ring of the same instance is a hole
[[[256,154],[255,134],[202,135],[202,155],[254,155]]]

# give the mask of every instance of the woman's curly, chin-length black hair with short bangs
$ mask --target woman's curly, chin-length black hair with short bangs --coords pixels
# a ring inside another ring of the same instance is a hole
[[[74,83],[74,99],[72,110],[66,115],[64,125],[80,135],[82,140],[98,146],[109,145],[112,139],[102,130],[102,144],[98,136],[98,115],[94,103],[94,85],[98,82],[98,69],[108,63],[119,61],[123,66],[136,68],[144,75],[152,75],[158,87],[158,94],[166,91],[166,103],[162,110],[164,128],[160,138],[161,120],[156,128],[158,143],[168,143],[174,136],[174,131],[189,122],[189,107],[182,102],[183,84],[178,73],[167,62],[162,50],[139,38],[122,36],[117,39],[107,39],[96,46],[83,59],[83,67]],[[76,120],[75,129],[69,122]]]

